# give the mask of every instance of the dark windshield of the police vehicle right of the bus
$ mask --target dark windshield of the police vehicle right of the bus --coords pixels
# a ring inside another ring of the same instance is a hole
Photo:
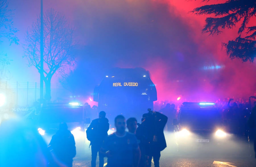
[[[208,129],[220,125],[220,113],[215,108],[183,109],[179,122],[191,129]]]

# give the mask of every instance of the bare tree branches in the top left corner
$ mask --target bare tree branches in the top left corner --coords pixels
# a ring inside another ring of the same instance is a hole
[[[7,0],[0,0],[0,42],[3,42],[1,38],[5,37],[10,44],[18,44],[19,40],[15,35],[17,31],[13,27],[12,10],[8,8]]]

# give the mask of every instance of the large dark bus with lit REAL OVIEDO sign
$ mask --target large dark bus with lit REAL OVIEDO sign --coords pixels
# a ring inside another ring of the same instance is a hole
[[[110,122],[119,114],[140,120],[157,100],[156,87],[144,68],[112,68],[95,87],[93,100]]]

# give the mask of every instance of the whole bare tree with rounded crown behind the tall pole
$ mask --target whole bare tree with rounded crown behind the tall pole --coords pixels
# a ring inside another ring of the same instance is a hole
[[[73,27],[65,16],[54,9],[44,14],[44,83],[46,86],[45,99],[51,99],[51,78],[58,72],[65,76],[70,67],[75,65],[72,54]],[[26,33],[24,56],[29,66],[35,66],[40,73],[40,16]]]

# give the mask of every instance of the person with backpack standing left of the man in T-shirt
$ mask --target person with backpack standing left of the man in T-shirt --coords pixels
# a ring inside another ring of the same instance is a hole
[[[86,130],[86,134],[91,131],[91,137],[90,144],[92,145],[92,161],[91,166],[96,166],[96,159],[97,154],[100,151],[100,148],[102,147],[103,140],[108,136],[108,130],[109,130],[109,123],[108,119],[106,118],[106,112],[101,111],[99,113],[99,118],[92,120],[92,123]],[[89,134],[88,134],[89,135]],[[99,152],[99,160],[100,164],[99,167],[103,167],[104,165],[104,156]]]

